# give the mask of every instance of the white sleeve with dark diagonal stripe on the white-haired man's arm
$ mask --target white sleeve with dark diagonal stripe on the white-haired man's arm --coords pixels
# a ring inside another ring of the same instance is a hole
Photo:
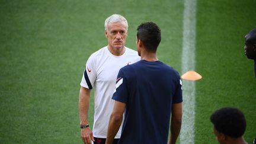
[[[80,83],[81,87],[88,89],[92,89],[92,87],[94,87],[94,82],[96,81],[97,77],[96,60],[97,58],[94,55],[91,55],[87,60],[82,81]]]

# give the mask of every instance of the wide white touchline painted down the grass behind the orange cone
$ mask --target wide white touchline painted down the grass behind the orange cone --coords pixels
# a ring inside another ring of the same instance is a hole
[[[196,50],[196,0],[184,0],[183,12],[183,52],[182,73],[195,69]],[[195,119],[194,81],[183,81],[183,122],[181,124],[180,143],[194,143]]]

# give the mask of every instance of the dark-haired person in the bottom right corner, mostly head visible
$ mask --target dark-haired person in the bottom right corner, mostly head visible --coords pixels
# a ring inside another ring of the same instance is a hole
[[[246,120],[242,111],[238,108],[223,107],[210,116],[213,123],[213,131],[220,144],[245,144],[243,137],[246,128]]]

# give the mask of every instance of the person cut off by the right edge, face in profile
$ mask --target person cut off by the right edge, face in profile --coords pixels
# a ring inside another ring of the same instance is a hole
[[[245,36],[245,55],[248,59],[254,60],[254,72],[256,76],[256,28],[249,31]]]

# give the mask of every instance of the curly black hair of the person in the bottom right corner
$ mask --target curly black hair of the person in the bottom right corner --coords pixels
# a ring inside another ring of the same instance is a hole
[[[210,120],[217,132],[224,133],[233,138],[241,137],[245,133],[245,116],[238,108],[220,108],[210,116]]]

